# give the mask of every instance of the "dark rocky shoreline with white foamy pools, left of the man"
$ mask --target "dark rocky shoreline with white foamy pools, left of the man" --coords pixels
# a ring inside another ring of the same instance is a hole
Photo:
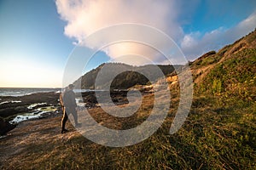
[[[16,97],[0,96],[0,135],[14,129],[18,122],[58,112],[59,95],[50,92]]]

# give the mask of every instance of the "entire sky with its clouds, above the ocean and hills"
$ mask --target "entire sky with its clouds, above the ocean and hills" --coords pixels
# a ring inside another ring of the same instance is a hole
[[[84,42],[86,37],[124,23],[164,32],[186,59],[195,60],[253,31],[256,1],[0,0],[0,87],[61,88],[76,46],[97,48],[98,44]],[[110,45],[96,54],[84,72],[125,53],[148,54],[148,49],[131,43]],[[166,64],[151,55],[152,62]]]

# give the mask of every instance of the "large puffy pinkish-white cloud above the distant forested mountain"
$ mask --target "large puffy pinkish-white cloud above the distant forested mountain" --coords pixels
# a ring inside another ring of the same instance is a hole
[[[178,38],[183,34],[176,21],[177,10],[174,1],[75,0],[71,3],[70,0],[56,0],[56,6],[61,19],[67,21],[65,34],[78,42],[83,42],[85,37],[97,30],[122,23],[152,26],[166,32],[172,38]],[[135,34],[137,37],[140,36],[138,31]],[[104,41],[108,42],[106,37],[104,38]],[[98,48],[93,42],[86,43],[90,48]],[[112,59],[124,54],[137,54],[137,57],[148,55],[148,59],[155,60],[153,49],[138,43],[121,42],[103,50]]]

